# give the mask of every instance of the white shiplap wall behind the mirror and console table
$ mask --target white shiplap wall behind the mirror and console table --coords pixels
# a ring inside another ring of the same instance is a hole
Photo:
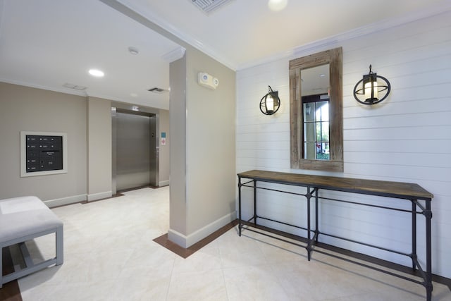
[[[263,169],[418,183],[434,195],[433,273],[451,278],[451,12],[317,47],[314,52],[335,47],[343,48],[344,173],[290,169],[288,61],[311,50],[237,72],[237,172]],[[392,92],[381,104],[363,106],[354,100],[352,90],[368,73],[370,63],[373,71],[390,80]],[[282,99],[273,116],[259,111],[268,85]],[[300,197],[267,190],[260,190],[258,197],[259,215],[305,225]],[[393,203],[369,196],[348,197]],[[243,216],[249,218],[252,190],[244,189],[243,199]],[[407,201],[399,203],[401,208],[410,207]],[[330,202],[321,204],[321,212],[321,231],[410,251],[408,214]],[[424,223],[419,221],[418,253],[424,262]],[[407,257],[326,237],[321,240],[411,266]]]

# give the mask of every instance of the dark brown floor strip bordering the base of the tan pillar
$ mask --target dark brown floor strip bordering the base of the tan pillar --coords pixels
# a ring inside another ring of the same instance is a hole
[[[154,242],[158,243],[159,245],[162,245],[163,247],[166,247],[166,249],[170,250],[171,252],[174,252],[175,254],[178,254],[178,256],[180,257],[187,258],[190,255],[202,249],[202,247],[208,245],[213,240],[216,240],[216,238],[223,235],[231,228],[235,227],[237,223],[238,223],[237,220],[228,223],[226,226],[223,226],[222,228],[218,229],[218,231],[211,233],[203,240],[196,242],[194,245],[192,245],[191,247],[187,247],[186,249],[184,247],[180,247],[180,245],[177,245],[175,242],[171,242],[171,240],[168,240],[168,233],[163,234],[158,238],[155,238]]]

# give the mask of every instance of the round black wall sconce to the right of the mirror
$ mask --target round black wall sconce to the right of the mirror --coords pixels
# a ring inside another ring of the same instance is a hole
[[[390,82],[383,76],[371,71],[364,75],[354,87],[354,98],[361,104],[377,104],[388,97],[390,93]]]

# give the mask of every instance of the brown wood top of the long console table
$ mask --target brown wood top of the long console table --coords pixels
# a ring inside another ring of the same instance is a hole
[[[365,180],[359,178],[340,178],[333,176],[314,176],[302,173],[280,173],[277,171],[245,171],[238,173],[240,178],[261,180],[264,182],[311,186],[328,190],[357,192],[366,195],[397,197],[402,199],[431,200],[433,194],[414,183],[390,182],[383,180]]]

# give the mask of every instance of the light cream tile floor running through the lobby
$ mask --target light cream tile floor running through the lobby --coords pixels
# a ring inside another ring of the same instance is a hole
[[[421,285],[233,228],[187,259],[152,241],[167,233],[168,187],[53,209],[64,221],[64,264],[20,279],[39,300],[426,300]],[[54,238],[29,244],[54,256]],[[434,283],[433,300],[451,300]]]

